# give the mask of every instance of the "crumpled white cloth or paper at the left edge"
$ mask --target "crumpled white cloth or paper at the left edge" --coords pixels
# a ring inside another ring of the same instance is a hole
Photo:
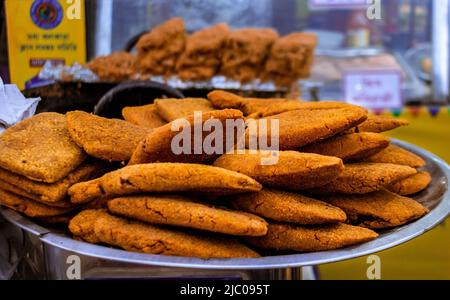
[[[0,78],[0,133],[33,116],[39,101],[41,98],[25,98],[15,84],[3,84]]]

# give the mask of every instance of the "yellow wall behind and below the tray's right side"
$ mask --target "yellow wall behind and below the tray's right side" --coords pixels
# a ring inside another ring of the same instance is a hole
[[[426,108],[404,110],[411,122],[389,136],[425,148],[450,163],[450,113],[447,108],[432,117]],[[378,253],[382,279],[450,279],[450,219],[423,236]],[[320,266],[322,279],[367,279],[366,257]]]

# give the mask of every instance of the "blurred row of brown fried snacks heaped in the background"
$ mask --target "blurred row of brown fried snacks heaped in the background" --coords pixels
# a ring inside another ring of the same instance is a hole
[[[316,36],[291,33],[279,37],[270,28],[230,30],[221,23],[188,35],[181,18],[144,34],[137,55],[115,52],[88,63],[103,81],[120,82],[147,75],[204,81],[223,75],[242,83],[255,79],[289,86],[310,75]],[[139,77],[139,76],[138,76]]]

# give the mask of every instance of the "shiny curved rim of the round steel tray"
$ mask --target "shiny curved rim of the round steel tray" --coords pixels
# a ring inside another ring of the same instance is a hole
[[[393,139],[394,144],[412,150],[415,153],[432,160],[438,165],[446,176],[447,182],[450,179],[450,167],[436,155],[413,146],[409,143]],[[26,217],[9,210],[0,209],[0,213],[11,223],[19,226],[25,231],[40,236],[43,243],[51,247],[72,252],[73,254],[89,256],[98,259],[147,265],[155,267],[175,267],[189,269],[208,270],[261,270],[261,269],[284,269],[294,267],[315,266],[334,263],[384,251],[403,243],[406,243],[443,222],[450,214],[450,191],[447,189],[442,196],[441,202],[425,217],[413,223],[407,224],[380,236],[378,239],[357,246],[347,247],[339,250],[302,253],[281,256],[268,256],[252,259],[199,259],[189,257],[175,257],[166,255],[151,255],[128,252],[125,250],[108,248],[99,245],[88,244],[76,241],[63,234],[51,232],[37,224],[34,224]]]

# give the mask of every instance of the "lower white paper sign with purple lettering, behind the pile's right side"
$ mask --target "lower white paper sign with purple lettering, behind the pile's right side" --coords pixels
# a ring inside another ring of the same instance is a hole
[[[398,71],[347,71],[343,78],[345,101],[369,109],[401,108],[402,76]]]

